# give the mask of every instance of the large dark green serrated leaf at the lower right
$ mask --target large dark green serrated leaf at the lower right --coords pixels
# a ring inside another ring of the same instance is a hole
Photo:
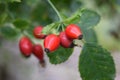
[[[82,80],[114,80],[115,64],[110,52],[98,44],[85,43],[79,57]]]

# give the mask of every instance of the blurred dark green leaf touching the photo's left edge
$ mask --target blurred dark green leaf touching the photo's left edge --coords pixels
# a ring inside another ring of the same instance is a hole
[[[0,27],[0,34],[5,38],[15,38],[18,35],[18,32],[11,26],[3,26]]]

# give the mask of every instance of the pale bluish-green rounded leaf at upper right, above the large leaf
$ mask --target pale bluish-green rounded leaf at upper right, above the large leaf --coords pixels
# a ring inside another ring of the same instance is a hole
[[[99,21],[100,16],[96,12],[84,9],[82,10],[79,25],[81,28],[90,29],[97,25]]]

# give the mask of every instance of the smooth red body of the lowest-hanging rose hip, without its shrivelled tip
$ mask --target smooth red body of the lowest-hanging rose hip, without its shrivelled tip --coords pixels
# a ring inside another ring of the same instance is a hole
[[[33,46],[32,49],[33,54],[40,60],[43,61],[44,59],[44,52],[43,52],[43,48],[40,44],[36,44]]]

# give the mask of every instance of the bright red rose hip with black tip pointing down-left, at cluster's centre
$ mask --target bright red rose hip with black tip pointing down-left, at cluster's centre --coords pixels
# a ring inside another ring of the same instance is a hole
[[[60,38],[55,34],[48,35],[44,40],[45,52],[55,51],[60,45]]]

